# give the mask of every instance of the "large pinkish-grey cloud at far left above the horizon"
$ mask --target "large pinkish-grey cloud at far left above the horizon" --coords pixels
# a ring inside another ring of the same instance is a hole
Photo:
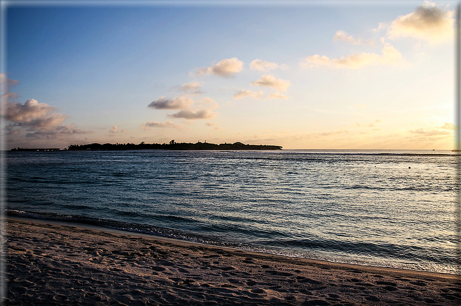
[[[6,119],[16,126],[29,128],[49,128],[60,126],[69,116],[57,113],[56,108],[39,103],[35,99],[27,100],[26,103],[6,103]]]

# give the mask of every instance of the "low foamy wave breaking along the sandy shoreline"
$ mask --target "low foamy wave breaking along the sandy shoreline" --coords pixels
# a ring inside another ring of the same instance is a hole
[[[211,235],[197,235],[184,231],[174,230],[172,228],[132,222],[97,219],[75,215],[25,212],[15,209],[5,209],[5,213],[7,216],[96,225],[112,228],[119,231],[142,233],[153,236],[167,237],[202,244],[226,246],[240,250],[262,252],[287,257],[320,259],[330,262],[352,263],[369,266],[395,267],[398,269],[414,271],[461,274],[461,271],[457,265],[458,259],[455,254],[445,254],[441,256],[440,254],[437,254],[437,252],[428,253],[428,250],[419,250],[414,246],[368,242],[357,243],[337,240],[320,241],[315,239],[279,239],[278,242],[280,246],[274,246],[271,244],[273,240],[269,237],[267,237],[265,240],[266,242],[262,240],[260,241],[260,245],[253,245],[250,243],[225,241],[219,237],[213,237]],[[306,249],[309,251],[306,252]],[[412,255],[409,255],[410,253]],[[374,256],[370,256],[370,254],[374,254]],[[391,254],[393,254],[393,258],[390,257]],[[418,255],[415,256],[415,254]]]

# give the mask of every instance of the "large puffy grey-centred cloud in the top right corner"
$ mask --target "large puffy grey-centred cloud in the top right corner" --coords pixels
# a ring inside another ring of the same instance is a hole
[[[414,37],[436,44],[453,39],[453,11],[441,10],[425,1],[415,11],[398,16],[387,32],[390,39]]]

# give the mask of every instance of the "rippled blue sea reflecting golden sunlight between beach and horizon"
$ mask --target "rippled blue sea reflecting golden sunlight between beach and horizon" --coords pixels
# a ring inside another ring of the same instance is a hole
[[[6,160],[10,215],[460,274],[451,151],[8,152]]]

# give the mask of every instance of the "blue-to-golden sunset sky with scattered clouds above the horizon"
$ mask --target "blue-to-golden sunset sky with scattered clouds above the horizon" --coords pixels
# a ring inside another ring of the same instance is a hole
[[[452,149],[456,2],[3,2],[5,148]]]

